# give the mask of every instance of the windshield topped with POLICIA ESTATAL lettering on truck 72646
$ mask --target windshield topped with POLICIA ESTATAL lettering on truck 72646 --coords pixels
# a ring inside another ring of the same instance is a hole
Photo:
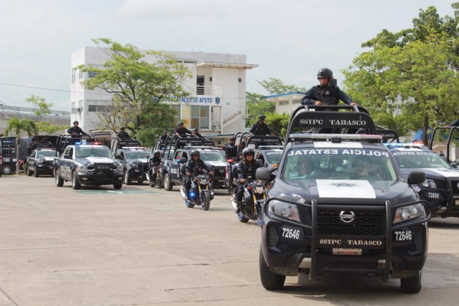
[[[386,151],[355,148],[291,149],[282,167],[282,177],[290,180],[397,180]]]

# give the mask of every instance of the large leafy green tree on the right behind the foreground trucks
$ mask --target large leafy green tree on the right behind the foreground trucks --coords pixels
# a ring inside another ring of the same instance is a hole
[[[458,35],[453,30],[457,24],[456,19],[440,18],[436,8],[429,7],[420,10],[412,29],[383,30],[362,44],[369,50],[343,71],[347,93],[369,109],[376,124],[402,135],[423,129],[427,144],[429,126],[444,124],[456,115],[451,110],[459,98]],[[390,118],[387,113],[398,101],[402,101],[403,117]]]

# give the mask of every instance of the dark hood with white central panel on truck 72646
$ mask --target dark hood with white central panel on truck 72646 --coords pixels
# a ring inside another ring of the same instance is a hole
[[[316,199],[318,203],[383,205],[386,200],[398,204],[419,199],[406,182],[398,181],[278,179],[269,190],[270,197],[292,202]]]

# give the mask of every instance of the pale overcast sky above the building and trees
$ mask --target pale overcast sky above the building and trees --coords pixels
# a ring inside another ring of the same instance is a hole
[[[246,54],[246,90],[279,78],[310,88],[383,29],[412,28],[419,9],[453,16],[453,0],[0,0],[0,104],[70,110],[71,52],[106,37],[138,49]],[[357,101],[358,102],[358,101]]]

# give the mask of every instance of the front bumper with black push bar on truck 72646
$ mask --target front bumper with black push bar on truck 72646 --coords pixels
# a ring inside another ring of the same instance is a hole
[[[429,209],[426,201],[421,202]],[[275,273],[294,276],[298,272],[309,272],[311,280],[324,273],[381,276],[383,281],[389,276],[414,276],[427,258],[430,214],[426,218],[393,225],[391,209],[415,203],[419,201],[393,207],[389,202],[386,207],[366,206],[366,210],[371,208],[370,211],[381,213],[382,224],[379,230],[376,227],[375,233],[361,231],[354,235],[338,228],[335,234],[321,233],[318,211],[323,207],[315,201],[310,207],[310,226],[263,213],[261,247],[264,259]],[[342,206],[327,206],[327,209],[342,209]],[[347,206],[346,209],[358,211],[362,206]],[[405,233],[410,233],[410,239],[405,238]],[[354,245],[349,245],[347,240]]]

